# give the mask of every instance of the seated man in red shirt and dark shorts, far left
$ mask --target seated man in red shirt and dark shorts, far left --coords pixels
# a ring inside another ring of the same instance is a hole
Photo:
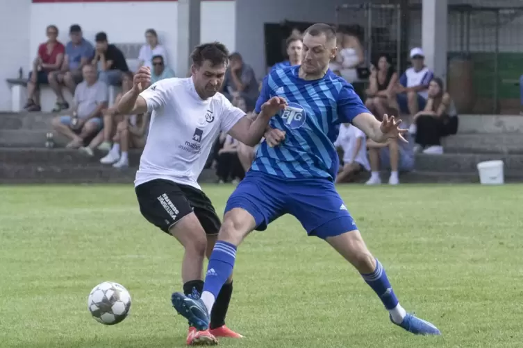
[[[27,111],[40,111],[40,85],[49,83],[47,76],[51,71],[62,67],[65,46],[56,40],[58,28],[47,27],[47,42],[38,46],[38,56],[33,62],[33,71],[29,73],[27,82]]]

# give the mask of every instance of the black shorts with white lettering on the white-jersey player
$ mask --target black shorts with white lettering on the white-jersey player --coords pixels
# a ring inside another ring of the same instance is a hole
[[[222,226],[207,195],[192,186],[155,179],[135,187],[140,212],[149,223],[169,233],[169,228],[194,212],[206,234],[218,234]]]

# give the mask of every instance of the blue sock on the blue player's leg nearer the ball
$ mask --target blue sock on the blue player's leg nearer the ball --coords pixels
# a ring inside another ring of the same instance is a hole
[[[217,241],[210,254],[205,277],[204,291],[218,297],[219,290],[233,273],[234,261],[236,260],[236,246],[224,241]]]

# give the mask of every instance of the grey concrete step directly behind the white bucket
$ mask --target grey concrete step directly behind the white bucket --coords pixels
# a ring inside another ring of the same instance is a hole
[[[501,159],[508,175],[523,173],[523,155],[445,153],[443,155],[416,155],[417,171],[440,173],[476,173],[479,162]]]

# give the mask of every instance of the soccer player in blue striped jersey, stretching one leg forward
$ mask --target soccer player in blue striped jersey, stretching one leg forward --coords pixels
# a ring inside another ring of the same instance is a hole
[[[229,198],[200,299],[172,295],[176,311],[197,329],[208,327],[210,310],[233,272],[236,248],[243,238],[254,229],[265,229],[283,214],[291,214],[308,235],[324,239],[360,272],[394,324],[415,334],[440,335],[433,324],[401,307],[385,269],[367,249],[335,190],[338,155],[333,142],[340,123],[356,125],[380,143],[405,141],[401,134],[406,132],[399,129],[401,121],[394,117],[384,115],[382,122],[377,121],[353,87],[328,69],[335,53],[333,28],[314,24],[304,36],[301,66],[277,69],[265,78],[256,112],[272,96],[285,98],[288,107],[270,121],[274,132],[284,132],[285,139],[279,143],[267,136],[270,144],[260,145],[251,170]]]

